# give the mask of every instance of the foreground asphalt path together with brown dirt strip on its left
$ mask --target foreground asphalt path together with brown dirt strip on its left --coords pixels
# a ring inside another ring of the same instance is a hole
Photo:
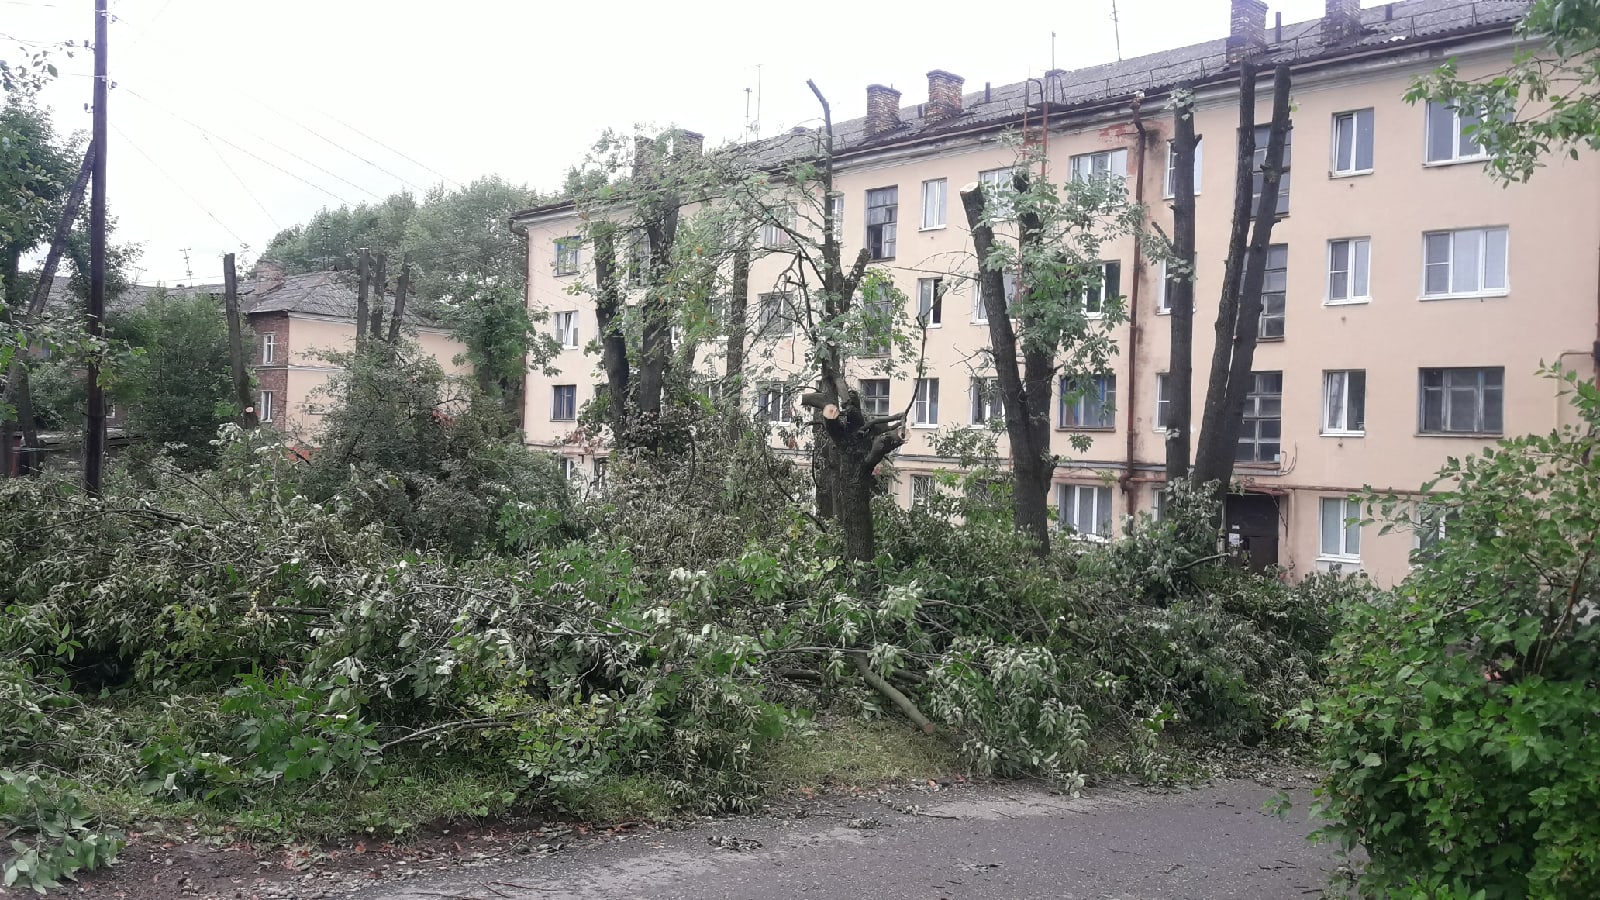
[[[494,823],[403,844],[211,847],[134,834],[62,897],[1210,898],[1314,897],[1336,860],[1304,838],[1307,775],[1066,798],[930,781],[795,794],[760,815],[662,828]],[[1286,817],[1262,807],[1280,791]],[[5,890],[0,890],[5,895]],[[13,895],[22,895],[13,892]],[[30,894],[29,894],[30,895]]]

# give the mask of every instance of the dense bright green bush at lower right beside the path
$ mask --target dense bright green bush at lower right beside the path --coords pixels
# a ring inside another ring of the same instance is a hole
[[[1581,424],[1451,460],[1443,535],[1394,591],[1349,604],[1307,706],[1323,830],[1387,897],[1600,895],[1600,391]],[[1411,503],[1371,496],[1394,528]],[[1435,520],[1440,520],[1435,517]]]

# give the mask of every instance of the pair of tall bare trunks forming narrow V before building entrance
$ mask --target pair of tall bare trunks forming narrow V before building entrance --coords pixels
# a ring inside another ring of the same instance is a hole
[[[1277,219],[1278,184],[1283,178],[1283,144],[1290,131],[1290,69],[1278,66],[1272,78],[1272,127],[1261,168],[1261,199],[1250,227],[1251,162],[1256,152],[1256,69],[1245,62],[1240,75],[1238,179],[1234,187],[1234,232],[1222,298],[1216,317],[1216,348],[1211,351],[1211,378],[1206,384],[1205,416],[1195,450],[1192,479],[1216,482],[1218,496],[1234,476],[1234,455],[1243,428],[1245,399],[1253,384],[1251,365],[1261,333],[1261,288],[1266,282],[1267,248]],[[1243,219],[1243,221],[1242,221]],[[1250,227],[1250,243],[1243,232]]]

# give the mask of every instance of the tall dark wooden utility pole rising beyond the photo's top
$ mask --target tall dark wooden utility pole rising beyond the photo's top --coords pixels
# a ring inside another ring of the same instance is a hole
[[[106,0],[94,0],[94,176],[90,194],[90,311],[91,341],[104,336],[106,319],[106,94],[107,27]],[[88,412],[83,416],[83,490],[98,496],[106,466],[106,391],[99,383],[99,349],[93,348],[88,365]]]

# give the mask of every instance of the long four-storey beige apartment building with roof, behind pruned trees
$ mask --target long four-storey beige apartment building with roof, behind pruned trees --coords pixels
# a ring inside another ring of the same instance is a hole
[[[1413,77],[1446,58],[1466,75],[1506,66],[1525,8],[1523,0],[1406,0],[1362,10],[1357,0],[1328,0],[1322,19],[1269,26],[1266,3],[1232,0],[1227,37],[1154,56],[981,90],[934,70],[926,98],[909,106],[899,91],[869,86],[867,117],[835,127],[846,258],[867,247],[909,298],[907,314],[934,319],[925,383],[906,372],[862,373],[872,402],[912,407],[894,458],[899,500],[934,490],[930,476],[954,468],[933,450],[941,428],[995,412],[971,394],[989,331],[971,288],[962,187],[1003,176],[1016,163],[1003,136],[1027,127],[1030,139],[1043,139],[1053,178],[1122,175],[1170,232],[1166,101],[1184,83],[1195,90],[1202,138],[1198,421],[1234,203],[1238,59],[1248,54],[1293,66],[1294,112],[1256,391],[1237,456],[1243,493],[1229,501],[1229,528],[1254,562],[1285,565],[1291,577],[1339,569],[1381,583],[1403,578],[1421,536],[1347,525],[1357,509],[1344,498],[1363,485],[1414,492],[1446,456],[1549,431],[1566,413],[1536,370],[1560,362],[1594,378],[1600,356],[1600,159],[1552,159],[1531,183],[1502,187],[1485,173],[1461,114],[1403,99]],[[1269,78],[1258,96],[1264,123]],[[797,130],[762,151],[800,155],[816,139]],[[570,242],[571,205],[528,210],[514,227],[528,237],[528,303],[550,312],[566,348],[558,375],[528,376],[526,440],[592,471],[605,448],[576,442],[574,418],[603,376],[584,351],[594,309],[570,290],[590,277],[587,248]],[[1096,391],[1056,412],[1059,519],[1091,540],[1155,509],[1165,461],[1165,274],[1131,239],[1104,256],[1109,290],[1126,298],[1130,314],[1117,330],[1120,354]],[[770,306],[757,295],[774,290],[778,264],[752,266],[757,323]],[[928,303],[934,279],[947,288],[938,312]],[[805,378],[792,340],[781,331],[754,343],[765,381]],[[720,360],[712,352],[706,364],[715,370]],[[757,384],[747,402],[774,424],[798,415],[790,389]],[[1070,447],[1074,434],[1090,437],[1086,452]]]

